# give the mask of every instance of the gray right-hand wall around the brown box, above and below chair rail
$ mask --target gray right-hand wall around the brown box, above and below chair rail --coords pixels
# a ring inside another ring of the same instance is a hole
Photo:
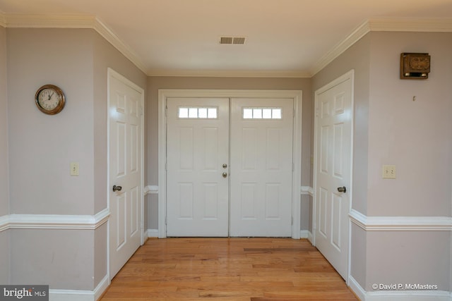
[[[452,34],[371,32],[318,73],[313,90],[355,69],[353,209],[367,216],[451,216]],[[428,80],[400,80],[401,52],[429,52]],[[416,96],[416,102],[412,97]],[[383,164],[397,179],[381,179]],[[451,289],[448,231],[352,226],[352,277]]]

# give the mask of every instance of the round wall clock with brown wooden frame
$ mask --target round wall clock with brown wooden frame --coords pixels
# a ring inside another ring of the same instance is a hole
[[[64,108],[66,99],[63,90],[55,85],[43,85],[35,94],[37,109],[43,113],[54,115]]]

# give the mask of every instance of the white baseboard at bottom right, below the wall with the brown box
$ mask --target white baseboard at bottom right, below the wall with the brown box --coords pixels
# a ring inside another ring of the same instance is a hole
[[[350,289],[361,301],[451,301],[452,293],[445,290],[376,290],[367,292],[350,276]]]

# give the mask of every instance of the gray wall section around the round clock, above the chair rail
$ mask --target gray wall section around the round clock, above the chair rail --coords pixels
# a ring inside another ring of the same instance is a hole
[[[95,214],[91,32],[7,30],[11,214]],[[66,94],[55,116],[33,102],[49,83]]]

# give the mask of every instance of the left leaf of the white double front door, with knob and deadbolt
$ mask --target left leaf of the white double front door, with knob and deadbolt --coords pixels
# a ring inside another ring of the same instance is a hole
[[[229,99],[167,99],[167,235],[227,236]]]

